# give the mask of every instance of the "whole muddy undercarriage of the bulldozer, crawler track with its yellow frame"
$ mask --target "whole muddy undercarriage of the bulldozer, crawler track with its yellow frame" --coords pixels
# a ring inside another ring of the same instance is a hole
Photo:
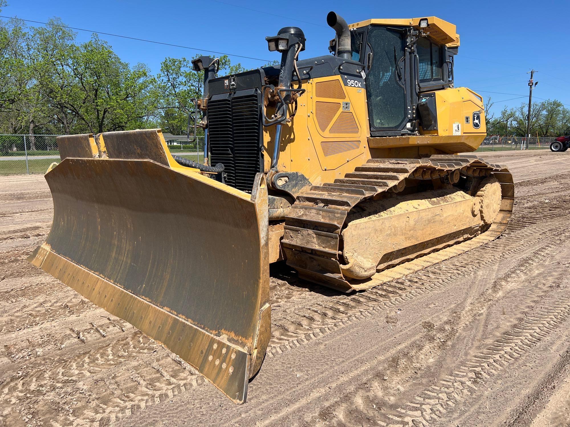
[[[513,198],[508,170],[475,155],[370,159],[298,196],[282,245],[300,277],[344,292],[369,289],[495,239]],[[429,224],[414,226],[426,213]],[[359,227],[363,220],[367,227]]]

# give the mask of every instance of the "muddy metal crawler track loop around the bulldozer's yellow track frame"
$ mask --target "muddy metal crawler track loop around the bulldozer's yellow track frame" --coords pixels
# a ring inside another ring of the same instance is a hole
[[[453,247],[432,253],[427,251],[424,256],[386,268],[365,281],[343,276],[340,233],[353,207],[382,192],[404,190],[406,180],[449,179],[457,173],[472,178],[494,176],[499,180],[502,190],[500,212],[486,231]],[[370,289],[496,239],[507,228],[513,204],[514,183],[506,167],[488,163],[476,155],[370,159],[357,167],[354,173],[346,174],[333,183],[313,186],[298,196],[291,214],[286,217],[282,244],[287,264],[299,272],[299,277],[343,292]]]

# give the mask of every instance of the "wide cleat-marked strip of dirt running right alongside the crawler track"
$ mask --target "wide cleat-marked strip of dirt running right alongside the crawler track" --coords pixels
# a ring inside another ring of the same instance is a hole
[[[570,197],[567,201],[570,200]],[[353,295],[335,294],[334,291],[321,290],[322,294],[313,293],[307,298],[307,291],[298,291],[298,295],[289,299],[276,297],[279,289],[272,296],[272,339],[268,355],[275,356],[306,343],[316,336],[327,334],[348,322],[359,320],[359,316],[370,313],[376,307],[395,305],[413,298],[418,293],[437,289],[445,281],[453,281],[458,277],[479,268],[488,268],[497,257],[509,258],[522,249],[538,244],[539,240],[548,240],[551,233],[564,232],[566,227],[553,227],[560,219],[570,218],[563,207],[552,206],[543,212],[532,212],[527,215],[515,215],[509,225],[508,232],[483,248],[473,249],[461,255],[459,265],[455,258],[443,261],[405,278],[389,282],[377,288]],[[547,210],[548,212],[544,212]],[[556,220],[556,221],[552,221]],[[533,226],[543,222],[545,229],[539,231]],[[516,231],[523,230],[522,233]],[[455,261],[454,261],[455,260]],[[449,266],[457,268],[449,271]],[[306,289],[320,290],[318,286],[306,285]],[[295,292],[295,290],[293,290]],[[296,297],[296,298],[295,298]],[[302,303],[299,307],[296,303]],[[284,306],[284,310],[275,310]],[[284,313],[282,313],[282,312]]]

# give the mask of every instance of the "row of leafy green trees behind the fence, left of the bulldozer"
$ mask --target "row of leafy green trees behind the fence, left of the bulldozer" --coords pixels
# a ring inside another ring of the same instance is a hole
[[[0,9],[6,5],[0,0]],[[77,44],[59,18],[26,28],[0,20],[0,132],[100,133],[160,125],[186,132],[193,98],[201,98],[203,72],[186,58],[166,58],[160,73],[129,65],[96,34]],[[245,71],[219,58],[219,75]]]

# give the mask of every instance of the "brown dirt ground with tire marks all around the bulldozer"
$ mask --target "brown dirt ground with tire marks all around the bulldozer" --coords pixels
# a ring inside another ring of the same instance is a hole
[[[364,293],[271,269],[272,339],[234,405],[26,262],[43,176],[0,176],[0,425],[570,426],[570,153],[504,151],[500,239]]]

